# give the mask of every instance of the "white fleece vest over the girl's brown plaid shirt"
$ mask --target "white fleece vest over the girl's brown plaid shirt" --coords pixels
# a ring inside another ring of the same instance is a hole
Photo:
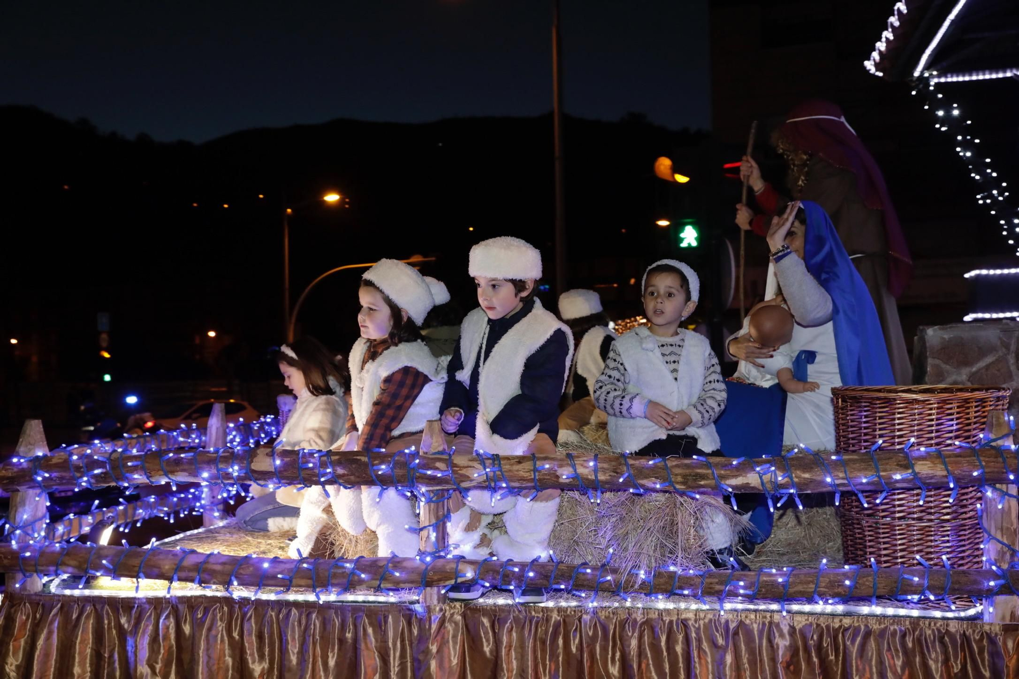
[[[424,342],[405,342],[389,347],[382,354],[370,361],[363,369],[369,341],[361,337],[354,343],[351,350],[351,406],[354,409],[354,421],[358,429],[364,427],[372,412],[372,404],[378,398],[382,380],[400,368],[417,368],[431,379],[425,384],[415,400],[411,410],[407,412],[399,425],[393,429],[392,435],[423,431],[428,420],[439,416],[439,406],[442,403],[442,390],[445,388],[445,363],[435,358],[428,345]]]

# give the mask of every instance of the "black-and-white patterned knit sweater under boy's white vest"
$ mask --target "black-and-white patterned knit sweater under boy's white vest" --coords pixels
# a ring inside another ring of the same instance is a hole
[[[683,336],[658,337],[658,351],[665,361],[673,379],[680,379],[680,355],[683,353]],[[704,385],[697,401],[687,409],[691,426],[703,427],[714,422],[726,407],[726,382],[718,368],[718,359],[709,352],[704,365]],[[623,363],[615,345],[608,351],[605,369],[594,382],[594,403],[601,410],[615,417],[644,417],[648,399],[640,394],[627,394],[626,385],[631,375]]]

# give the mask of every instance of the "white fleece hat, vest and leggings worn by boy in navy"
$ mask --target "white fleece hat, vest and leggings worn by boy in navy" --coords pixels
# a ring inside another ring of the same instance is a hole
[[[512,237],[483,241],[471,249],[469,272],[472,276],[503,280],[536,280],[541,277],[541,253],[529,243]],[[573,335],[555,316],[542,308],[537,300],[526,317],[516,323],[483,359],[482,346],[487,340],[488,316],[475,309],[461,325],[461,359],[464,369],[455,375],[470,385],[475,364],[482,361],[478,377],[478,417],[475,448],[498,455],[523,455],[538,432],[538,424],[524,435],[506,439],[491,430],[489,422],[515,396],[521,393],[520,378],[527,359],[561,330],[569,345],[569,355],[562,366],[562,386],[573,360]],[[491,550],[499,559],[530,561],[548,557],[548,538],[555,524],[559,499],[551,502],[528,502],[526,495],[493,498],[480,490],[467,493],[464,501],[470,508],[487,515],[478,530],[468,532],[470,511],[463,508],[451,517],[449,542],[458,545],[457,554],[485,556],[478,540],[486,532],[489,517],[503,515],[505,533],[492,535]]]

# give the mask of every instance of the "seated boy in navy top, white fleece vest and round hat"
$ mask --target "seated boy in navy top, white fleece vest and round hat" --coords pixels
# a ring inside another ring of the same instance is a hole
[[[480,308],[464,319],[449,361],[442,428],[457,434],[458,453],[554,454],[573,336],[534,298],[541,253],[520,239],[490,239],[471,249],[469,271]],[[457,493],[450,500],[449,542],[455,554],[469,558],[494,553],[514,561],[546,559],[558,495],[557,489],[531,501],[526,494],[494,499],[479,491],[462,500]],[[504,514],[505,532],[487,530],[493,514]],[[482,588],[454,585],[447,593],[471,599]],[[517,600],[541,602],[544,593],[526,588]]]

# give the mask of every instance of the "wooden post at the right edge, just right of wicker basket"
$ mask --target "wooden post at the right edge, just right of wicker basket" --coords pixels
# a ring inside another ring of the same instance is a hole
[[[1012,427],[1009,425],[1009,415],[1004,411],[990,413],[987,418],[987,429],[984,432],[989,438],[1006,436],[1000,445],[1011,446]],[[1017,494],[1016,485],[996,485],[996,488]],[[999,508],[999,503],[1002,503]],[[1014,498],[994,493],[993,498],[984,495],[983,525],[991,535],[1013,547],[1019,547],[1019,502]],[[1007,569],[1015,561],[1013,552],[998,542],[990,541],[984,549],[987,565],[997,564],[999,568]],[[983,599],[983,621],[998,623],[1019,622],[1019,597],[994,596]]]

